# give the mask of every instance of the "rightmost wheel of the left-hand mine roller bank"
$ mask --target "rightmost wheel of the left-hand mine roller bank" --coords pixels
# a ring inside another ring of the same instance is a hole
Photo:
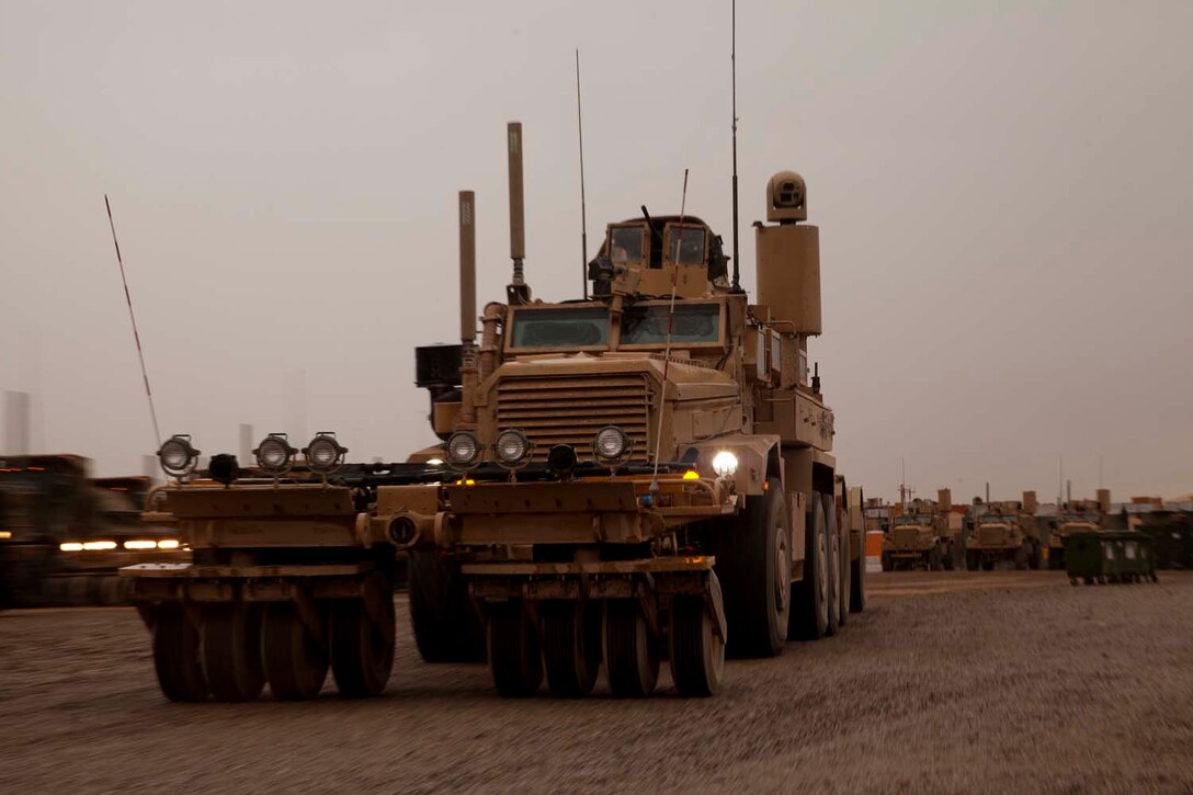
[[[394,598],[388,580],[385,586],[373,597],[378,598],[383,624],[369,616],[364,599],[332,604],[332,676],[346,698],[382,694],[394,672]]]

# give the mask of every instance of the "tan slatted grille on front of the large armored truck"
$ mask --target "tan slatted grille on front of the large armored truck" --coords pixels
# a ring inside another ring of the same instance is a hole
[[[544,461],[556,444],[573,445],[586,461],[593,436],[606,425],[617,425],[633,439],[631,461],[649,461],[644,375],[506,378],[497,384],[497,429],[521,429],[534,443],[533,461]]]

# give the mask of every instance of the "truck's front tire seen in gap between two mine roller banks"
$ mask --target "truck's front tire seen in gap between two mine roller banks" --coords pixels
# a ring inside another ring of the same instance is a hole
[[[481,662],[484,625],[468,596],[459,562],[438,551],[409,551],[410,625],[427,662]]]

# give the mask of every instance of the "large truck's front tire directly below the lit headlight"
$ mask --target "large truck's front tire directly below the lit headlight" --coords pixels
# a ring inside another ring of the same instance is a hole
[[[783,485],[771,477],[761,497],[747,497],[737,526],[717,543],[729,653],[774,657],[783,652],[791,612],[791,531]]]

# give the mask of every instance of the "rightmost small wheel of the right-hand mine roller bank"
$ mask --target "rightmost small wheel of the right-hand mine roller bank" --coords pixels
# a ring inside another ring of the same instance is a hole
[[[712,600],[721,603],[721,583],[709,577]],[[703,597],[676,596],[672,600],[667,635],[672,679],[684,697],[715,696],[725,672],[725,643],[717,634],[716,617]]]

